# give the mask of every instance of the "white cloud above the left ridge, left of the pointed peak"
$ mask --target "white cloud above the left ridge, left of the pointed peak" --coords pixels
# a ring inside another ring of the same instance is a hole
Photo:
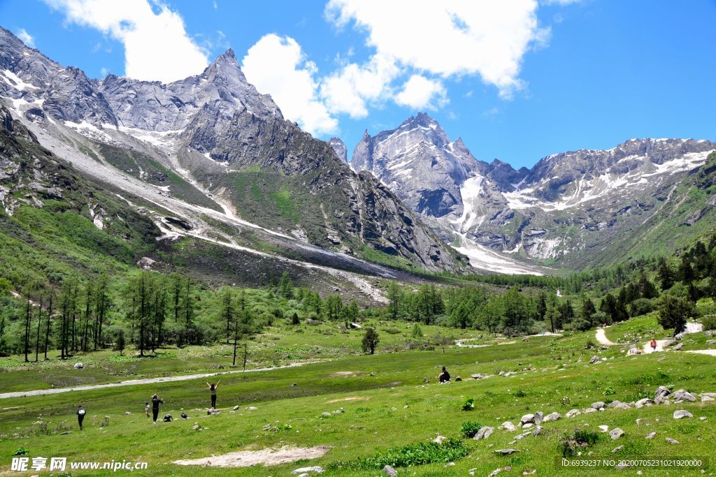
[[[158,0],[44,1],[63,11],[65,21],[121,41],[128,77],[173,82],[200,73],[208,64],[206,52],[188,36],[182,17]]]

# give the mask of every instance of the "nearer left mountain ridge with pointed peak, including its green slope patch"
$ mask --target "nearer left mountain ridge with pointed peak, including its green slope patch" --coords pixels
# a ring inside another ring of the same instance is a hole
[[[0,51],[1,100],[70,162],[94,158],[97,174],[115,167],[164,194],[327,250],[427,270],[464,267],[372,175],[355,174],[332,145],[284,119],[246,82],[231,50],[170,84],[89,79],[5,29]]]

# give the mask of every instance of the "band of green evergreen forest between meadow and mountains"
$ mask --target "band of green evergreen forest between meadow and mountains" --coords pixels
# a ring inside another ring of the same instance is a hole
[[[66,358],[109,347],[121,353],[129,345],[145,355],[164,345],[209,343],[233,343],[236,351],[241,340],[274,320],[291,325],[329,320],[349,328],[365,316],[523,335],[589,330],[659,309],[662,318],[682,317],[664,318],[665,328],[677,328],[695,313],[692,305],[701,297],[716,299],[716,238],[668,260],[569,278],[469,278],[468,283],[480,283],[413,287],[390,282],[389,303],[370,310],[344,303],[341,295],[321,297],[294,287],[286,273],[262,290],[209,290],[188,276],[143,270],[68,278],[57,287],[26,287],[20,296],[0,280],[0,355],[39,360],[48,350],[59,350]]]

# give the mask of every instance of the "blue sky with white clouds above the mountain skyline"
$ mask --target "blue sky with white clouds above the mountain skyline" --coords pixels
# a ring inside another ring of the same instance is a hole
[[[231,46],[286,117],[349,155],[364,129],[418,111],[515,167],[632,137],[716,139],[715,1],[407,5],[2,0],[0,24],[89,77],[169,81]]]

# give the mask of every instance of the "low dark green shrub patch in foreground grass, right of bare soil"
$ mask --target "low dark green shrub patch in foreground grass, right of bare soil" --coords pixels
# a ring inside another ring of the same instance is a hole
[[[458,439],[438,444],[421,442],[410,446],[392,447],[370,457],[358,458],[354,461],[334,462],[329,464],[330,470],[339,469],[382,469],[384,466],[410,467],[428,463],[448,463],[468,455],[467,446]]]

